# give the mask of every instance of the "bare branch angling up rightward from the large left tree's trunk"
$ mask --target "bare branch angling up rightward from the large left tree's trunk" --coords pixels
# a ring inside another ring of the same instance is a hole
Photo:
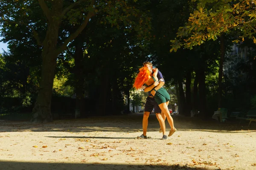
[[[91,6],[93,7],[95,0],[91,1]],[[70,43],[72,40],[74,40],[80,33],[83,31],[83,29],[87,26],[87,23],[89,22],[90,18],[94,15],[94,10],[92,9],[91,11],[88,12],[84,22],[82,25],[72,34],[70,34],[69,37],[64,41],[64,43],[61,45],[60,48],[58,48],[58,54],[61,54],[62,51],[65,51],[67,49],[68,43]]]

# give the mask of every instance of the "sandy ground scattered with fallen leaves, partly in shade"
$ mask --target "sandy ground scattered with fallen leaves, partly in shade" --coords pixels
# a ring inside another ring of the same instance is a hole
[[[142,113],[58,120],[0,121],[0,170],[256,170],[256,122],[200,121],[174,115],[177,132],[160,140]],[[166,128],[170,130],[166,120]],[[241,130],[244,129],[244,130]]]

